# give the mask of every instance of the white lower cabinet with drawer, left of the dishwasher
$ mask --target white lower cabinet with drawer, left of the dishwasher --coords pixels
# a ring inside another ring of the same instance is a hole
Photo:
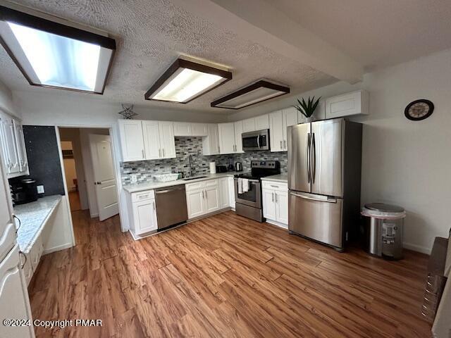
[[[154,190],[132,193],[128,206],[133,234],[139,236],[158,229]]]

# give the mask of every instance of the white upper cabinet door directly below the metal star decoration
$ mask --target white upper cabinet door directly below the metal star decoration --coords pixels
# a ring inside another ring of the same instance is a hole
[[[144,157],[144,139],[140,120],[119,120],[119,136],[123,161],[142,161]]]

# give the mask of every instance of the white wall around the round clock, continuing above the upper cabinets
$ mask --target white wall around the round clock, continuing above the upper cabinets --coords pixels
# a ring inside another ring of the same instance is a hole
[[[447,237],[451,227],[451,50],[366,74],[359,84],[338,82],[229,118],[292,106],[301,96],[327,97],[359,88],[370,93],[370,115],[353,118],[364,123],[362,204],[403,206],[405,246],[428,253],[434,237]],[[433,101],[433,115],[421,122],[407,120],[404,107],[421,98]]]

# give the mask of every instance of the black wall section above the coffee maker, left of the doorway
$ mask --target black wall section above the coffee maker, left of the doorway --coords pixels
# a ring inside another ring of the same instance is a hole
[[[63,174],[59,161],[55,127],[24,125],[30,177],[37,185],[44,185],[42,196],[64,194]]]

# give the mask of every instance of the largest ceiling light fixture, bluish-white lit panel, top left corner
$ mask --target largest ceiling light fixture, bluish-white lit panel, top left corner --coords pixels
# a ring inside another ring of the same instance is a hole
[[[0,44],[33,86],[103,94],[116,41],[89,30],[0,6]]]

